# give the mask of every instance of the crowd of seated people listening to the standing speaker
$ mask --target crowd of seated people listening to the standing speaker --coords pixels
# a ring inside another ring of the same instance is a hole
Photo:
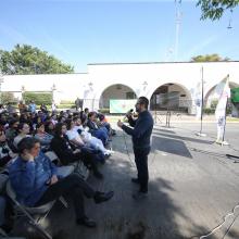
[[[42,104],[37,112],[34,103],[30,110],[25,105],[20,109],[20,113],[0,112],[0,174],[9,176],[18,202],[27,206],[70,194],[77,224],[95,227],[96,223],[85,214],[83,196],[100,203],[111,199],[113,192],[98,192],[78,174],[63,177],[55,168],[81,162],[95,177],[102,179],[99,166],[113,153],[109,149],[114,135],[110,124],[88,109],[56,113],[47,111]],[[58,156],[56,165],[47,156],[48,151]],[[0,228],[5,229],[8,198],[3,192],[0,192]]]

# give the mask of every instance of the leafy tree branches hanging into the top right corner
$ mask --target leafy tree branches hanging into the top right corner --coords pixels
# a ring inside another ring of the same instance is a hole
[[[198,0],[197,5],[201,7],[201,20],[219,20],[226,10],[235,9],[239,0]]]

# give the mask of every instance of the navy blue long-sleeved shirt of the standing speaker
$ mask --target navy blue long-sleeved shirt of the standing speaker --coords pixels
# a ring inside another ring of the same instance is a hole
[[[139,113],[139,117],[136,121],[129,120],[129,125],[134,128],[123,125],[122,129],[131,136],[134,148],[149,148],[153,129],[153,118],[150,112],[143,111]]]

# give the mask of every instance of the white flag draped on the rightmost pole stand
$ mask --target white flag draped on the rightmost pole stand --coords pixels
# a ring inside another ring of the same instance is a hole
[[[217,142],[223,142],[226,126],[226,108],[227,100],[230,98],[229,88],[229,76],[224,78],[215,89],[216,93],[219,96],[218,103],[216,105],[215,117],[217,123]]]

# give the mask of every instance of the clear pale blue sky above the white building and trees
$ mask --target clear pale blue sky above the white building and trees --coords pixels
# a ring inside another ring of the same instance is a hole
[[[196,3],[0,0],[0,49],[32,45],[73,65],[78,73],[87,72],[89,63],[190,61],[210,53],[239,60],[239,9],[219,21],[200,21],[201,10]],[[230,17],[232,28],[228,29]]]

